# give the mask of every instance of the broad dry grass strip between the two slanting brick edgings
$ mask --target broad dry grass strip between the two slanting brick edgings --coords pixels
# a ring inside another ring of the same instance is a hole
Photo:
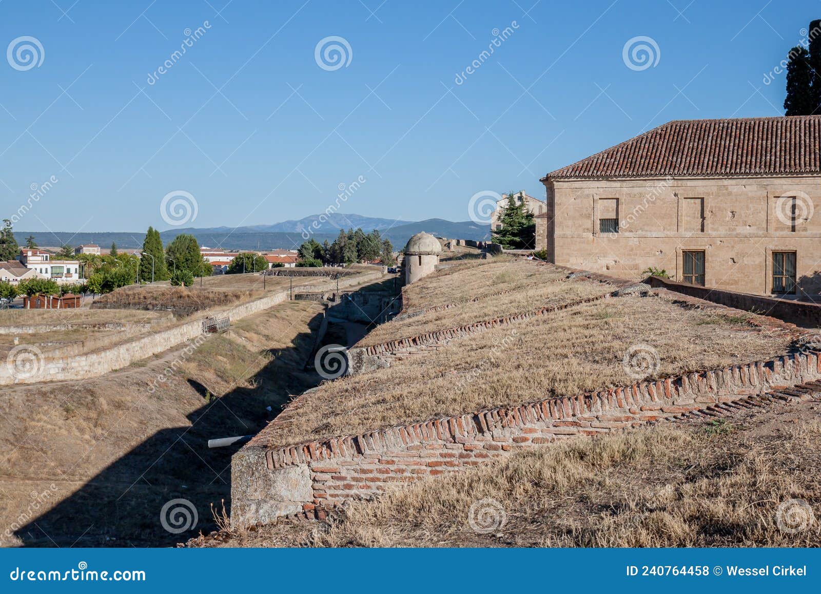
[[[622,359],[641,343],[658,352],[658,371],[649,376],[663,377],[773,357],[787,351],[790,339],[667,297],[616,297],[323,384],[299,399],[299,415],[264,435],[271,445],[294,444],[631,384],[635,377]]]

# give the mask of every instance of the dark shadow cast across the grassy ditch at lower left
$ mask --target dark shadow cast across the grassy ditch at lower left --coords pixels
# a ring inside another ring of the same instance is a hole
[[[310,327],[319,326],[321,317],[315,316]],[[299,334],[254,375],[250,385],[255,387],[236,388],[220,398],[199,381],[186,380],[203,398],[203,405],[187,415],[190,426],[154,433],[15,536],[23,546],[174,546],[216,530],[211,506],[222,511],[224,500],[230,513],[231,457],[241,446],[209,449],[208,440],[255,434],[291,394],[319,384],[322,378],[305,373],[301,365],[313,342],[313,334]],[[161,518],[172,500],[186,502],[172,504]],[[180,528],[187,529],[177,532]]]

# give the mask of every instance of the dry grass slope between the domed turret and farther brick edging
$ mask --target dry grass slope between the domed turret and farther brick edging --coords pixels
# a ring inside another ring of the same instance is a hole
[[[457,328],[587,297],[599,297],[615,290],[608,283],[588,279],[562,281],[565,277],[565,271],[553,266],[520,260],[510,265],[471,267],[458,274],[433,277],[429,283],[425,279],[406,289],[410,295],[403,299],[410,301],[410,304],[403,303],[403,312],[412,313],[415,307],[428,309],[447,303],[458,305],[439,311],[424,311],[420,315],[379,325],[360,341],[359,346]],[[483,294],[487,297],[471,301]],[[425,295],[427,300],[424,299]]]

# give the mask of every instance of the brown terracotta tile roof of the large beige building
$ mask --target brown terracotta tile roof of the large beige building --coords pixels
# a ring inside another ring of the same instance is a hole
[[[819,174],[819,145],[821,116],[674,120],[543,179]]]

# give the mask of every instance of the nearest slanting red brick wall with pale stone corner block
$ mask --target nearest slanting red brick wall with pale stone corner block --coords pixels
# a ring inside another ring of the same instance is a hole
[[[756,397],[798,398],[795,386],[821,378],[818,352],[795,353],[574,398],[547,398],[406,426],[268,448],[258,437],[232,462],[232,524],[319,513],[386,486],[456,472],[580,435],[600,435],[692,411],[749,408]],[[779,396],[780,394],[780,396]]]

